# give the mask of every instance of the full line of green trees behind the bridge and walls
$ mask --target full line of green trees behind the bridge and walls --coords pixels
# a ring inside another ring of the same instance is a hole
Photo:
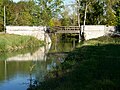
[[[81,25],[85,12],[88,25],[120,25],[120,0],[76,0],[69,6],[64,5],[63,0],[27,0],[17,3],[0,0],[0,30],[3,30],[4,6],[6,25],[78,25],[78,10]]]

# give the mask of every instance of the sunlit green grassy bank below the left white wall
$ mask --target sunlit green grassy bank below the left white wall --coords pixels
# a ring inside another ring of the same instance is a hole
[[[43,42],[30,36],[0,34],[0,52],[14,51],[42,45]]]

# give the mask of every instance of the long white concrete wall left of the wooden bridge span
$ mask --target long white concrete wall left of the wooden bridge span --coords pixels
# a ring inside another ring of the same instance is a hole
[[[49,35],[45,35],[45,31],[44,26],[6,26],[6,33],[34,36],[43,41],[46,38],[46,42],[51,42]]]

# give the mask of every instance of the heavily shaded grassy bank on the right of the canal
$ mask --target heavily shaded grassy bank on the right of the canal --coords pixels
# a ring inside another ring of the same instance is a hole
[[[86,41],[58,66],[57,77],[46,80],[35,90],[119,90],[119,52],[120,38]]]

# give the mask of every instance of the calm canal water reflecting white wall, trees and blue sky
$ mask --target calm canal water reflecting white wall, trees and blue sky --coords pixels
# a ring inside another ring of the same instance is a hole
[[[0,54],[0,90],[27,90],[57,64],[64,61],[76,41],[62,41],[43,47]]]

